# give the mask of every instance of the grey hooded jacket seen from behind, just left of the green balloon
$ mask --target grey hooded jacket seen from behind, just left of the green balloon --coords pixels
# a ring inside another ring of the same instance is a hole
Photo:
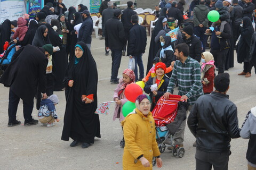
[[[197,27],[199,24],[203,24],[204,27],[208,27],[209,20],[207,19],[207,14],[209,13],[209,8],[203,4],[196,5],[194,8],[194,25]]]

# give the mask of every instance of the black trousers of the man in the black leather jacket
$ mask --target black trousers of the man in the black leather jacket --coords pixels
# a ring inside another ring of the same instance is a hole
[[[195,158],[196,170],[228,170],[229,151],[212,153],[196,149]]]

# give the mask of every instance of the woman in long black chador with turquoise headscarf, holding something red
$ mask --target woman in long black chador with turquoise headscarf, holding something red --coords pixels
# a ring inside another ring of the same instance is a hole
[[[83,42],[75,46],[75,57],[71,59],[63,80],[66,86],[66,111],[61,140],[74,141],[70,147],[82,142],[82,148],[100,138],[97,109],[98,71],[92,54]]]

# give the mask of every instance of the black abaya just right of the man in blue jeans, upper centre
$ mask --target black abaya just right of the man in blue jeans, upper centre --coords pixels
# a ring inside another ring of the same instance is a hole
[[[159,17],[156,26],[152,32],[151,40],[150,40],[150,46],[149,46],[149,54],[148,54],[148,64],[147,64],[147,73],[153,66],[152,62],[156,56],[156,53],[158,52],[159,48],[161,48],[159,41],[155,43],[155,37],[157,36],[158,32],[163,29],[163,19],[165,17],[161,16]]]

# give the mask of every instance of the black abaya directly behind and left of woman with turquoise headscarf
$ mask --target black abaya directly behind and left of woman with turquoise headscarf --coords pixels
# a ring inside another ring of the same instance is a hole
[[[63,85],[62,81],[65,76],[65,71],[68,65],[68,57],[66,54],[66,50],[61,43],[61,39],[59,34],[53,30],[50,24],[45,24],[48,28],[48,36],[50,37],[52,46],[60,47],[58,52],[54,52],[52,54],[52,64],[53,64],[53,90],[60,91],[65,86]]]

